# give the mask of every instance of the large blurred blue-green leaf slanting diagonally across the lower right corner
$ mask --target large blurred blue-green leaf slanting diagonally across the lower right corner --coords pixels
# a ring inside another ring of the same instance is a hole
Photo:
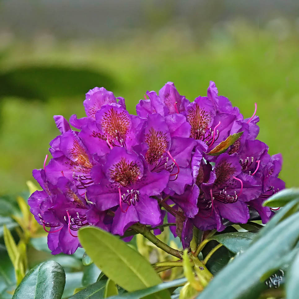
[[[257,284],[265,273],[278,270],[277,261],[292,250],[298,236],[299,213],[295,213],[235,257],[197,298],[210,299],[215,294],[217,299],[240,298]]]

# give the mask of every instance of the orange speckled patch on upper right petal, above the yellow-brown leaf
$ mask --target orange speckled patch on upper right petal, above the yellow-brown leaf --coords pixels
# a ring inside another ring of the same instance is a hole
[[[195,104],[194,107],[188,109],[187,121],[191,125],[190,136],[195,138],[195,136],[197,136],[197,130],[207,129],[212,120],[212,115],[209,112],[205,111],[204,108],[200,108],[198,104]]]

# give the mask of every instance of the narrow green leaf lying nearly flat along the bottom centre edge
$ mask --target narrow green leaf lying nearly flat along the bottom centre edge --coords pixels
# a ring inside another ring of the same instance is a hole
[[[121,298],[140,299],[140,298],[143,298],[145,296],[155,294],[155,293],[157,293],[161,290],[166,290],[168,288],[181,286],[181,285],[185,284],[186,282],[187,282],[186,278],[175,279],[175,280],[172,280],[172,281],[163,282],[163,283],[158,284],[156,286],[146,288],[146,289],[142,289],[142,290],[138,290],[138,291],[135,291],[135,292],[118,294],[117,296],[109,297],[109,299],[121,299]],[[169,298],[169,297],[161,297],[161,298]]]

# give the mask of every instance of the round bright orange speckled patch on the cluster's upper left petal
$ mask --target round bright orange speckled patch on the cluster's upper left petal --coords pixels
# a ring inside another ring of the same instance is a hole
[[[103,132],[109,134],[112,139],[118,137],[125,140],[131,125],[130,116],[125,111],[118,112],[113,108],[105,112],[101,120]]]

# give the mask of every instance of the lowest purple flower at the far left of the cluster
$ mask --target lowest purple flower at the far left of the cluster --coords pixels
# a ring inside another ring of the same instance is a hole
[[[52,254],[73,254],[80,246],[75,231],[82,226],[92,224],[110,230],[107,213],[96,210],[80,196],[77,187],[67,178],[60,177],[56,185],[52,185],[43,169],[35,169],[33,175],[44,190],[35,191],[28,204],[37,222],[45,231],[49,228],[48,246]]]

